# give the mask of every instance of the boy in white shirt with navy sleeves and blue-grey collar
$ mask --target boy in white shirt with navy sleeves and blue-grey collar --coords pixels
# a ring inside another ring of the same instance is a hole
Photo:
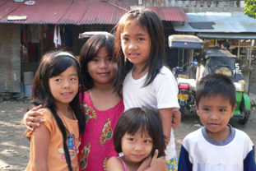
[[[255,171],[254,144],[244,132],[231,127],[236,99],[228,76],[202,77],[196,90],[196,107],[204,127],[184,138],[179,171]]]

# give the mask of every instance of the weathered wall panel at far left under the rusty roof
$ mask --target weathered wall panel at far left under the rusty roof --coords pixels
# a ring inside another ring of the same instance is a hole
[[[21,92],[21,25],[0,26],[0,92]]]

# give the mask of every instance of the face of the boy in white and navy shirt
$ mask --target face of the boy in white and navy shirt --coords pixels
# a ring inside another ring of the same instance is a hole
[[[226,125],[233,116],[235,106],[232,108],[230,99],[221,95],[200,98],[197,113],[209,136],[225,134]]]

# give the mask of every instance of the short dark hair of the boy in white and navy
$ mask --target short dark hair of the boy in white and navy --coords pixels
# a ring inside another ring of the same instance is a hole
[[[201,97],[221,95],[230,99],[232,108],[235,106],[235,85],[229,76],[223,74],[208,74],[203,76],[196,88],[196,104],[198,106]]]

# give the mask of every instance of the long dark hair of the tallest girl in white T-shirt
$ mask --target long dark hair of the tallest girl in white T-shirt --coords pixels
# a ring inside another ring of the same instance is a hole
[[[140,25],[148,32],[151,38],[151,50],[146,65],[142,68],[144,72],[149,67],[147,79],[144,86],[151,84],[161,67],[165,64],[165,35],[161,19],[155,12],[138,8],[124,14],[119,23],[114,27],[116,29],[116,37],[114,41],[114,60],[118,62],[119,70],[114,78],[115,90],[119,94],[122,90],[123,81],[128,72],[133,68],[133,63],[127,60],[124,62],[124,54],[121,47],[121,34],[123,29],[130,25]]]

